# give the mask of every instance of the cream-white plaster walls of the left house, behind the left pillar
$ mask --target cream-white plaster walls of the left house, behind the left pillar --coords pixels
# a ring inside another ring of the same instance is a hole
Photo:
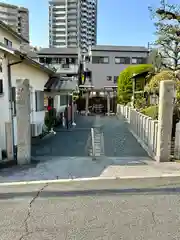
[[[2,53],[0,53],[0,56]],[[18,61],[13,59],[12,61]],[[8,75],[7,75],[7,63],[8,60],[3,60],[3,73],[0,73],[0,79],[3,79],[3,90],[4,94],[0,95],[0,149],[6,149],[6,138],[5,138],[5,122],[10,121],[10,110],[9,110],[9,92],[8,92]],[[45,111],[36,112],[35,102],[35,90],[44,91],[44,85],[47,82],[49,76],[47,73],[35,68],[31,65],[21,63],[11,67],[11,78],[12,86],[16,86],[16,79],[29,79],[32,87],[31,99],[32,99],[32,113],[31,122],[44,122]],[[16,133],[16,117],[14,117],[14,132]],[[17,143],[15,134],[15,144]]]

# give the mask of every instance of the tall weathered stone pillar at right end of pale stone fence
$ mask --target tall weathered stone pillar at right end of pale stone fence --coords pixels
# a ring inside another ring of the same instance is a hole
[[[167,162],[170,160],[174,97],[174,81],[161,81],[159,90],[159,115],[156,150],[156,160],[158,162]]]

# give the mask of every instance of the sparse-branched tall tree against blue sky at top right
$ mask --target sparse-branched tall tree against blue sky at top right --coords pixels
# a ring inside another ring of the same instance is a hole
[[[178,71],[180,70],[180,4],[166,4],[165,0],[161,0],[160,4],[158,9],[150,8],[156,27],[157,40],[154,44],[159,49],[162,67]]]

